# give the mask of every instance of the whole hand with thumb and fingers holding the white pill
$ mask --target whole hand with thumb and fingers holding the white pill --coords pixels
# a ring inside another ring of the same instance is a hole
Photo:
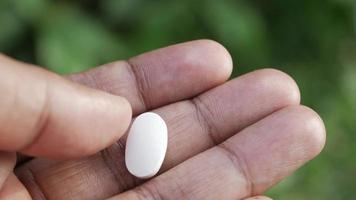
[[[67,77],[5,56],[0,70],[0,199],[268,200],[258,195],[325,143],[293,79],[262,69],[227,81],[231,57],[210,40]],[[148,110],[167,123],[168,151],[139,180],[125,132]]]

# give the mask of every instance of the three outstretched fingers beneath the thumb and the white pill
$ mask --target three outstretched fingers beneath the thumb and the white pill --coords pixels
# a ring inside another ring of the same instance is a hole
[[[153,110],[163,117],[169,143],[160,174],[145,182],[131,176],[123,137],[90,157],[27,161],[15,169],[25,187],[14,178],[12,189],[34,199],[241,199],[263,193],[320,152],[324,127],[313,111],[298,106],[298,88],[287,75],[265,69],[225,82],[231,67],[221,46],[196,41],[70,76],[126,97],[134,115]]]

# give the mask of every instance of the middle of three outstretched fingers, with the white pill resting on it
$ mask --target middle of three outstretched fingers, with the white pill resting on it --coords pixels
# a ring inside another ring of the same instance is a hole
[[[231,80],[197,98],[199,100],[182,101],[154,111],[163,117],[169,130],[168,151],[161,172],[276,110],[298,104],[299,91],[289,76],[266,69]],[[220,131],[211,131],[213,126]],[[71,195],[84,199],[91,199],[93,195],[105,198],[140,183],[125,168],[123,144],[119,142],[100,154],[79,161],[48,163],[35,159],[18,168],[17,174],[31,193],[40,191],[33,182],[26,181],[28,171],[36,174],[37,183],[43,185],[43,190],[52,191],[51,198],[68,199]],[[69,187],[71,184],[80,185],[81,189]]]

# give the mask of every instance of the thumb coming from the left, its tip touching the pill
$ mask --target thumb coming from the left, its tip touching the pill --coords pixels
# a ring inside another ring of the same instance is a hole
[[[127,129],[122,97],[0,57],[0,150],[68,158],[93,154]]]

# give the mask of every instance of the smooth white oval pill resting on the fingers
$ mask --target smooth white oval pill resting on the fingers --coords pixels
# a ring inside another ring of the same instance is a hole
[[[146,112],[134,120],[129,131],[125,163],[129,172],[139,178],[154,176],[167,151],[167,125],[156,113]]]

